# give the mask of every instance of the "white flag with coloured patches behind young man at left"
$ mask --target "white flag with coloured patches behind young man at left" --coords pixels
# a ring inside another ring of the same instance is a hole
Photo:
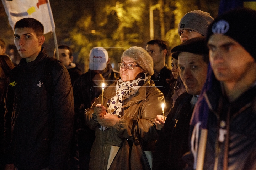
[[[13,30],[14,24],[22,18],[40,21],[44,26],[44,34],[55,30],[49,0],[2,0],[2,3]]]

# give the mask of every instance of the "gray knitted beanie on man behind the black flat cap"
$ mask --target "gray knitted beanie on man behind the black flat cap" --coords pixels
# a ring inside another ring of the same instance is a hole
[[[194,10],[186,13],[178,24],[178,33],[182,29],[192,29],[204,36],[206,36],[207,28],[214,21],[209,13],[201,10]]]

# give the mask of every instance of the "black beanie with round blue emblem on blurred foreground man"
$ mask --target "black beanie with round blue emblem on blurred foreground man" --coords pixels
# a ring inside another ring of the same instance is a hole
[[[212,34],[226,35],[238,42],[256,61],[256,11],[236,8],[218,16],[210,24],[206,40]]]

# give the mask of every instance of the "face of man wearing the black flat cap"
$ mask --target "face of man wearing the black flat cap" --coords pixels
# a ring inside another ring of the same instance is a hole
[[[181,52],[178,67],[186,91],[191,95],[199,95],[207,76],[207,63],[203,61],[203,55]]]

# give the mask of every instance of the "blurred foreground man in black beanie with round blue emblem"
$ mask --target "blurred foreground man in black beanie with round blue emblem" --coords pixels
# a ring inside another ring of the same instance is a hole
[[[199,146],[191,147],[194,157],[188,169],[195,169],[199,162],[207,170],[256,169],[256,33],[248,39],[248,27],[256,27],[256,11],[238,8],[218,16],[208,28],[213,74],[207,81],[211,88],[200,95],[191,119],[192,136],[201,137]],[[191,138],[193,142],[197,140]]]

